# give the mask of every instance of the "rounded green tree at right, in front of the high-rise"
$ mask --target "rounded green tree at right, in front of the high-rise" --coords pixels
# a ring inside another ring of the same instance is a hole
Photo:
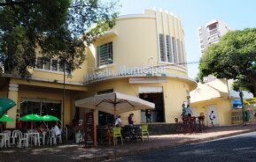
[[[218,43],[206,49],[200,59],[199,74],[234,79],[235,90],[247,90],[256,96],[256,28],[226,33]]]

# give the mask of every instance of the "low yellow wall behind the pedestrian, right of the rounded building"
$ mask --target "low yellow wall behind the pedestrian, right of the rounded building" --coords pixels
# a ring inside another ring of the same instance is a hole
[[[202,102],[197,102],[197,103],[191,103],[190,106],[195,109],[194,111],[200,113],[204,113],[206,116],[206,124],[207,123],[207,118],[209,118],[208,114],[206,113],[206,107],[214,105],[217,108],[217,112],[214,112],[215,115],[218,116],[219,118],[219,124],[221,126],[224,125],[230,125],[231,124],[231,99],[211,99],[211,100],[206,100]]]

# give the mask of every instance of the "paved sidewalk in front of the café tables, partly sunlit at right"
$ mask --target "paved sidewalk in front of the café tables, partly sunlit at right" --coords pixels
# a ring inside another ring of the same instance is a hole
[[[187,135],[160,135],[151,136],[151,140],[144,143],[118,144],[117,146],[98,146],[83,148],[76,144],[63,144],[57,146],[43,146],[35,148],[0,149],[0,161],[103,161],[139,154],[145,151],[154,151],[175,147],[183,144],[192,144],[213,140],[225,136],[256,131],[256,125],[215,127],[206,133]]]

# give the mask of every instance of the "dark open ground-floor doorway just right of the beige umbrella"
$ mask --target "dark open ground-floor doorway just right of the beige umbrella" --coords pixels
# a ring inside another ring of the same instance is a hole
[[[151,122],[165,122],[163,92],[140,93],[139,98],[155,104],[151,110]],[[146,122],[144,110],[141,111],[141,122]]]

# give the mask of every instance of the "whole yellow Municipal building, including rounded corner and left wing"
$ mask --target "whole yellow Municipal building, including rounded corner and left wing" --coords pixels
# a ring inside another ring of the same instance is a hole
[[[40,63],[40,58],[37,62]],[[71,124],[74,115],[82,119],[88,111],[75,107],[75,100],[121,92],[154,102],[152,122],[170,123],[180,118],[182,103],[197,87],[184,64],[181,18],[166,11],[145,10],[144,14],[120,16],[111,31],[86,49],[81,69],[66,77],[64,108],[63,70],[56,63],[51,60],[32,70],[30,81],[7,74],[0,77],[0,97],[17,103],[7,114],[15,119],[16,114],[52,113]],[[125,124],[130,113],[120,114]],[[132,113],[136,123],[145,122],[144,111]],[[97,112],[97,116],[100,124],[106,115]],[[15,122],[7,123],[7,128],[14,127]]]

